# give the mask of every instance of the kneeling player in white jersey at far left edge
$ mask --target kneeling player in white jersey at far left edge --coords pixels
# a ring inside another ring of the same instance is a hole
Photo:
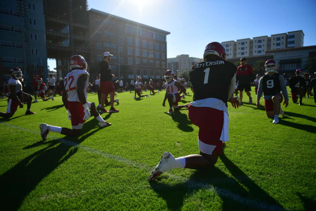
[[[25,115],[36,114],[32,112],[32,96],[22,91],[22,84],[20,79],[22,78],[22,71],[18,67],[13,67],[10,69],[11,78],[8,81],[8,108],[7,113],[0,112],[1,117],[10,118],[14,115],[17,107],[23,108],[23,102],[27,102],[27,110]]]

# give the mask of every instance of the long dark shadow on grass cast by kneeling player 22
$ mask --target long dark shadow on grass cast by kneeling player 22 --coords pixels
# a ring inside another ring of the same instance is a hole
[[[84,124],[82,128],[83,135],[78,138],[65,136],[64,138],[50,141],[39,141],[24,147],[24,150],[35,147],[40,147],[40,149],[21,160],[0,176],[1,209],[17,210],[24,198],[43,178],[77,152],[78,147],[76,145],[86,140],[98,130],[99,122],[92,119]],[[35,138],[40,140],[40,133]],[[63,144],[63,142],[66,143]]]

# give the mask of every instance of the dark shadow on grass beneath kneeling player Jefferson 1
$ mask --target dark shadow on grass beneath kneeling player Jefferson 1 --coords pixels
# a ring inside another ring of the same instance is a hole
[[[251,208],[249,204],[238,202],[238,197],[234,196],[234,194],[250,200],[252,199],[253,201],[259,199],[268,205],[283,209],[274,198],[253,182],[224,154],[220,156],[220,159],[228,171],[230,171],[233,178],[227,177],[224,172],[217,167],[213,167],[209,170],[195,171],[191,177],[183,183],[177,183],[175,185],[160,183],[159,181],[163,178],[162,174],[160,178],[158,177],[156,179],[157,182],[150,182],[149,184],[151,188],[166,201],[168,209],[171,210],[181,209],[183,202],[186,200],[185,198],[192,198],[191,194],[199,192],[200,189],[209,189],[210,191],[214,189],[222,198],[222,210],[249,210]],[[233,200],[234,198],[236,198],[235,201]],[[192,200],[195,199],[192,198]],[[210,203],[212,203],[212,197],[210,197],[209,200]],[[252,209],[254,208],[256,207]]]

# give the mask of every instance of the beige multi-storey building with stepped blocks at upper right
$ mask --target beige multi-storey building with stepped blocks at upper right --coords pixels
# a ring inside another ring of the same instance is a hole
[[[222,42],[226,48],[227,59],[241,57],[261,56],[268,54],[267,51],[292,47],[303,47],[304,33],[302,30],[291,31],[282,34],[264,35],[240,40]]]

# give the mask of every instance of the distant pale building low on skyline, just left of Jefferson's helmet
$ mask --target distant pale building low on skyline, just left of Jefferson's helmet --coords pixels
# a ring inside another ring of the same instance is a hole
[[[172,70],[174,72],[179,71],[189,71],[192,65],[202,62],[203,59],[196,57],[189,57],[188,54],[178,55],[176,58],[168,58],[168,70]]]

